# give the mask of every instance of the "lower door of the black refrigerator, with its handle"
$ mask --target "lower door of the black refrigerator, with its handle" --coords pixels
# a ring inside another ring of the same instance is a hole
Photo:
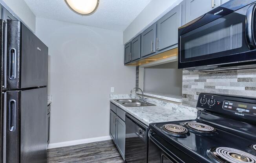
[[[6,163],[46,163],[47,87],[5,94]]]

